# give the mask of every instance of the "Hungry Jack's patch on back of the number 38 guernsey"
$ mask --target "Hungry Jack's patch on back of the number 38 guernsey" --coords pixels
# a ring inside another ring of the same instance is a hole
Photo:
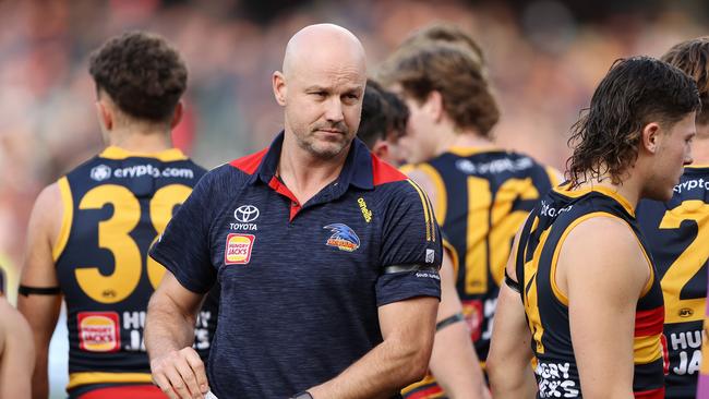
[[[116,352],[121,349],[121,330],[116,312],[80,312],[79,348],[88,352]]]

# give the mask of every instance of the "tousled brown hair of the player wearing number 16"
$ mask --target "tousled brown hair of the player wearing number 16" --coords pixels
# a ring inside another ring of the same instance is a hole
[[[481,65],[459,46],[435,43],[402,48],[385,61],[381,72],[385,85],[399,84],[417,101],[431,92],[443,97],[443,108],[457,128],[474,129],[485,137],[500,120],[500,109]]]

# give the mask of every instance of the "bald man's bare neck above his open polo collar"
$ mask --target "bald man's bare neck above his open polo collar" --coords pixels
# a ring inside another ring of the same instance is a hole
[[[298,202],[304,204],[339,177],[351,145],[339,155],[323,159],[301,148],[295,137],[289,138],[288,134],[284,137],[278,176]]]

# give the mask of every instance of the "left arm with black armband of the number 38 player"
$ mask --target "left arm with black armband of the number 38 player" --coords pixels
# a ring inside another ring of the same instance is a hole
[[[32,210],[25,244],[25,263],[17,295],[17,309],[27,319],[34,340],[35,361],[32,373],[34,398],[44,399],[49,395],[47,375],[49,341],[57,326],[61,306],[52,250],[59,235],[62,217],[61,194],[59,185],[55,183],[43,190]]]

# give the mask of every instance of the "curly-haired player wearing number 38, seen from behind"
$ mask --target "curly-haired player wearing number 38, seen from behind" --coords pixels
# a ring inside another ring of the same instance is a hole
[[[92,55],[107,147],[47,186],[29,221],[19,305],[37,348],[35,398],[47,397],[47,351],[67,301],[71,398],[164,398],[143,343],[147,302],[165,269],[147,251],[205,170],[171,148],[187,69],[163,38],[128,33]],[[203,356],[211,299],[195,328]]]

